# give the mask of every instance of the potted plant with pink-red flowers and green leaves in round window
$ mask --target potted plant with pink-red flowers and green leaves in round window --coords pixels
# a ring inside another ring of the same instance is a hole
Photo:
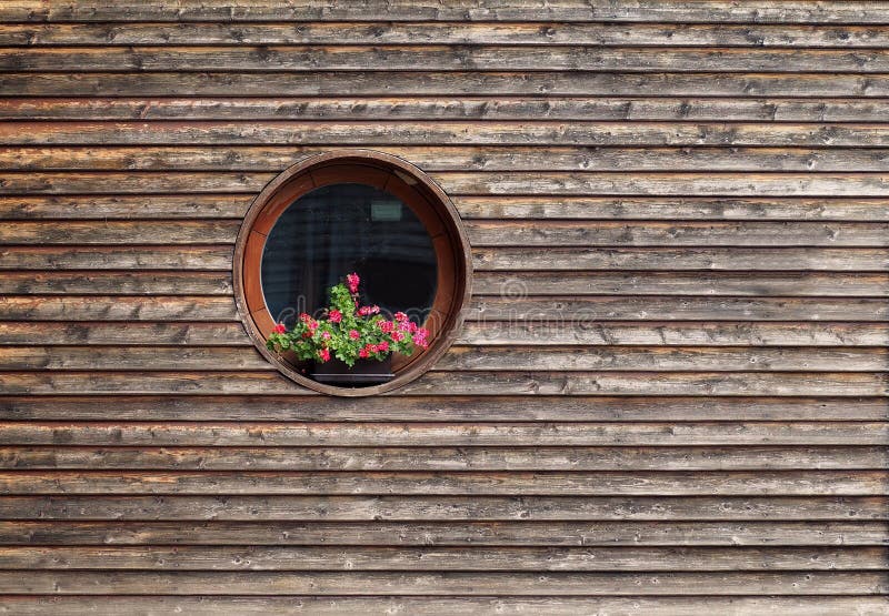
[[[312,378],[332,384],[372,384],[389,381],[392,353],[410,355],[429,346],[429,332],[403,312],[392,319],[376,305],[362,305],[352,273],[328,291],[330,302],[323,316],[301,313],[288,330],[278,323],[266,345],[276,353],[289,352],[313,363]]]

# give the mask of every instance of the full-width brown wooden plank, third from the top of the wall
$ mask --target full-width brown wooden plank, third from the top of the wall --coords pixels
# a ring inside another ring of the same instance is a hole
[[[411,71],[625,71],[886,73],[887,49],[775,49],[586,47],[557,43],[521,48],[497,44],[237,47],[30,47],[0,48],[0,72],[101,71],[298,73],[352,71],[361,74]]]

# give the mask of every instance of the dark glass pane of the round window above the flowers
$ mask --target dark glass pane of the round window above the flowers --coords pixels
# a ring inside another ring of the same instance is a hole
[[[327,290],[361,276],[361,301],[422,323],[436,295],[432,241],[398,198],[364,184],[333,184],[297,199],[278,219],[262,254],[269,313],[287,325],[319,315]]]

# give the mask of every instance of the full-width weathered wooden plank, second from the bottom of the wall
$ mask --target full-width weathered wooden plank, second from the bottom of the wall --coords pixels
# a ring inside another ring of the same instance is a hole
[[[857,573],[272,573],[0,572],[6,594],[132,595],[850,595],[886,593],[886,575]]]

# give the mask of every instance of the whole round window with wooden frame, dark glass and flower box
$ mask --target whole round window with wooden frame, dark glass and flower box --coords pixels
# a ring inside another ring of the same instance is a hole
[[[469,296],[459,215],[396,156],[307,159],[254,200],[238,235],[234,290],[257,347],[301,385],[371,395],[447,351]]]

